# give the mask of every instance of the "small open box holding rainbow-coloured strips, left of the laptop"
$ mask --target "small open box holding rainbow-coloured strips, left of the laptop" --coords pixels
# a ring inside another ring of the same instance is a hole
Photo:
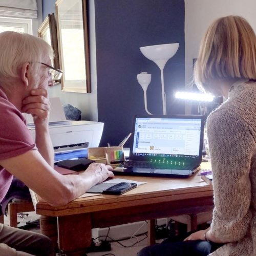
[[[111,146],[105,147],[106,162],[112,167],[118,166],[121,162],[125,162],[123,147]]]

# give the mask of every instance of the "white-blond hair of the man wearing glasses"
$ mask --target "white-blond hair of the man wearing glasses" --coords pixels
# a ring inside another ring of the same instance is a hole
[[[0,33],[0,83],[19,77],[25,62],[31,63],[31,72],[36,74],[39,65],[53,59],[51,46],[39,37],[25,33],[6,31]],[[38,68],[37,68],[38,67]]]

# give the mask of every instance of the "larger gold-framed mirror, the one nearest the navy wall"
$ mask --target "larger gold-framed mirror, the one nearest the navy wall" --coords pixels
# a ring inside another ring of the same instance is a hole
[[[86,0],[58,0],[55,7],[62,91],[90,93]]]

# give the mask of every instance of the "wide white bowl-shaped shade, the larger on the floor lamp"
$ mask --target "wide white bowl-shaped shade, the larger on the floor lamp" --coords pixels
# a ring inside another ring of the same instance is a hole
[[[142,54],[163,69],[167,60],[172,58],[179,48],[179,43],[140,47]]]

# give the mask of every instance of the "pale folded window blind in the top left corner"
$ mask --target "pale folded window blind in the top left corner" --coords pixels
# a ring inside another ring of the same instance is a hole
[[[36,0],[1,0],[0,16],[37,18]]]

